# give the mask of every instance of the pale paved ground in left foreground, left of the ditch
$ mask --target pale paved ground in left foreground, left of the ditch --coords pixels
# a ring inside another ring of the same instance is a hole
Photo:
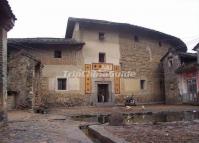
[[[9,117],[8,126],[0,129],[0,143],[91,143],[65,116],[13,111]]]

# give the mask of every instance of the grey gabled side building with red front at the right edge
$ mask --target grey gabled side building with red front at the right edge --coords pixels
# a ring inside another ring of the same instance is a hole
[[[196,53],[169,51],[162,64],[167,104],[198,104],[198,63]]]

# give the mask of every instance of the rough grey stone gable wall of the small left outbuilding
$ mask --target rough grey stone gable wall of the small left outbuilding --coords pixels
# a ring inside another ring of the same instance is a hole
[[[31,108],[34,72],[37,62],[21,53],[9,51],[8,91],[16,92],[16,108]]]

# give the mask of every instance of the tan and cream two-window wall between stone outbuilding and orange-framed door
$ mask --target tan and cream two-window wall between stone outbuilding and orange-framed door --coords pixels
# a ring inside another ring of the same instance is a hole
[[[61,58],[54,58],[54,51],[62,51]],[[84,70],[82,49],[77,47],[34,47],[30,52],[43,64],[41,75],[41,96],[47,104],[74,106],[85,105],[84,79],[68,73]],[[66,90],[58,90],[58,78],[66,78]]]

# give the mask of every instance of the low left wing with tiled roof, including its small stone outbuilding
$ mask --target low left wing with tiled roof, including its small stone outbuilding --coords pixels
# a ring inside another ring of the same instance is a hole
[[[84,69],[83,45],[82,42],[64,38],[9,39],[8,87],[10,91],[17,92],[16,105],[23,105],[25,99],[31,99],[28,106],[33,107],[46,103],[64,106],[84,104],[86,97],[84,89],[80,88],[83,87],[83,80],[81,77],[66,76],[67,72]],[[16,56],[22,50],[25,56]],[[21,60],[16,57],[21,57]]]

